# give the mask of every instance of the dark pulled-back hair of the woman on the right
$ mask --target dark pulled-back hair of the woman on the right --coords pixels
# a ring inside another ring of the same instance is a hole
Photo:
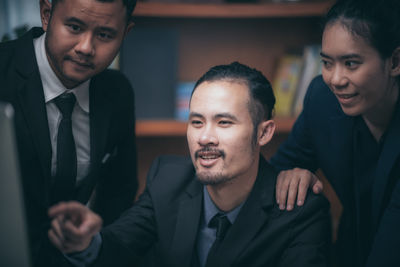
[[[400,46],[399,14],[399,0],[338,0],[328,11],[324,27],[341,23],[385,59]]]

